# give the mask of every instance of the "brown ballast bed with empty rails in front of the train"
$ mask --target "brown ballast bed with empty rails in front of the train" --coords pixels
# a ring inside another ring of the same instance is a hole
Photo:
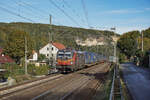
[[[63,75],[53,80],[45,81],[38,85],[32,85],[19,91],[6,93],[2,100],[73,100],[79,94],[87,91],[89,95],[96,91],[100,81],[94,75],[98,72],[106,71],[108,64],[95,65],[87,69]],[[93,84],[94,82],[94,84]],[[91,87],[92,88],[89,88]],[[85,90],[86,89],[86,90]],[[85,95],[83,95],[84,97]],[[74,99],[75,100],[75,99]],[[76,99],[77,100],[77,99]],[[84,99],[85,100],[85,99]],[[86,99],[87,100],[87,99]]]

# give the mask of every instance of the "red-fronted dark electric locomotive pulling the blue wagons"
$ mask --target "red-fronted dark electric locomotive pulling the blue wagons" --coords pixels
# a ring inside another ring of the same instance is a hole
[[[71,49],[59,50],[56,62],[56,68],[61,72],[82,69],[85,65],[84,52]]]

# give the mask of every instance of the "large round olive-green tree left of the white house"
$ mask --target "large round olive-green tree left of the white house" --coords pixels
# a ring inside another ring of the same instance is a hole
[[[33,50],[32,40],[24,31],[14,30],[8,35],[4,46],[4,53],[12,57],[16,63],[20,63],[20,59],[25,56],[25,37],[27,38],[28,56]]]

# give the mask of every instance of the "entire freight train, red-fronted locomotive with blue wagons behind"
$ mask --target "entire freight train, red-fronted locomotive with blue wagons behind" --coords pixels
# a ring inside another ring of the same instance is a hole
[[[72,72],[106,60],[96,53],[64,49],[57,52],[56,68],[62,73]]]

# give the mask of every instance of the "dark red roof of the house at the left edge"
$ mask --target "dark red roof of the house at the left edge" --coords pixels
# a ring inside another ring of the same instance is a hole
[[[14,60],[11,59],[8,55],[3,54],[3,49],[0,48],[0,64],[5,63],[14,63]]]

